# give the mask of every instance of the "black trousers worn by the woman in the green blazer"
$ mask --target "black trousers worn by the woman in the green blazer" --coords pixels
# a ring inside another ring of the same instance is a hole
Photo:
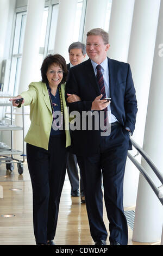
[[[33,188],[33,223],[37,243],[53,240],[64,185],[67,151],[65,135],[51,136],[48,150],[27,143],[27,162]]]

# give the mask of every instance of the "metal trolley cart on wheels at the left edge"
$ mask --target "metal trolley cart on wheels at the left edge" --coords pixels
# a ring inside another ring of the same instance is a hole
[[[9,98],[9,97],[8,97]],[[5,163],[7,170],[14,170],[14,164],[17,163],[17,170],[19,174],[23,173],[23,162],[25,161],[24,154],[24,107],[22,106],[22,127],[15,126],[12,123],[13,120],[13,106],[12,103],[0,103],[0,107],[10,106],[10,124],[1,124],[0,131],[11,131],[11,148],[1,148],[0,149],[0,163]],[[13,149],[13,131],[22,131],[22,143],[23,151]],[[22,156],[22,160],[15,159],[13,155]]]

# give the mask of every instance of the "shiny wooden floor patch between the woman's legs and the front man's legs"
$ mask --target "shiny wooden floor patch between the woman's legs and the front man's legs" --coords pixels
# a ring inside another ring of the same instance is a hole
[[[86,205],[80,202],[80,197],[71,197],[71,186],[67,176],[61,195],[55,243],[57,245],[94,244],[90,235]]]

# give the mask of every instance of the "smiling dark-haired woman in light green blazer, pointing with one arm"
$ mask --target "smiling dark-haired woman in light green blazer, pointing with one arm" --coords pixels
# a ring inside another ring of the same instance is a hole
[[[33,221],[37,245],[54,245],[59,202],[70,146],[65,101],[67,66],[59,54],[47,56],[41,66],[42,82],[29,84],[23,98],[30,105],[31,124],[25,137],[27,162],[33,187]]]

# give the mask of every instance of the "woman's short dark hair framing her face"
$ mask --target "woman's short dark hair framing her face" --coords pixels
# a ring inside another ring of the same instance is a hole
[[[63,78],[62,78],[61,83],[65,83],[66,79],[67,79],[67,74],[68,74],[67,65],[66,65],[66,60],[60,54],[54,54],[54,55],[49,54],[43,60],[43,63],[42,63],[42,66],[41,66],[42,82],[43,83],[48,83],[46,73],[47,73],[48,68],[53,64],[59,65],[60,68],[63,70]]]

